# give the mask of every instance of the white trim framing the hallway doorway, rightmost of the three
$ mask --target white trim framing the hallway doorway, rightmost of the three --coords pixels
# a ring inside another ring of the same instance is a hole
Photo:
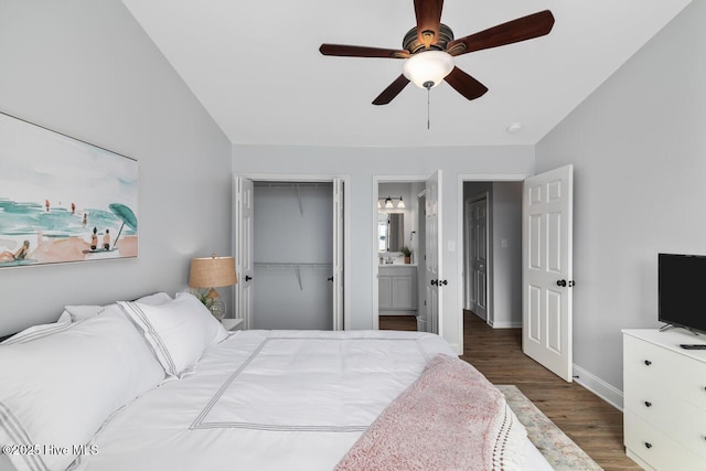
[[[466,182],[522,182],[526,178],[532,176],[534,173],[459,173],[456,184],[457,197],[457,240],[463,240],[463,183]],[[489,231],[489,229],[486,229]],[[457,274],[456,279],[463,279],[463,260],[464,260],[464,247],[463,244],[458,244],[458,259],[456,264]],[[492,270],[492,267],[490,267]],[[456,293],[457,300],[457,329],[459,332],[459,354],[463,354],[463,290],[466,289],[464,282],[459,282],[458,292]],[[490,286],[490,282],[489,282]],[[490,298],[490,296],[489,296]]]

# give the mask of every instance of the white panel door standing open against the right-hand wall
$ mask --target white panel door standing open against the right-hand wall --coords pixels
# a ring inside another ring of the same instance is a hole
[[[531,176],[524,182],[522,204],[522,349],[569,383],[573,186],[573,165]]]

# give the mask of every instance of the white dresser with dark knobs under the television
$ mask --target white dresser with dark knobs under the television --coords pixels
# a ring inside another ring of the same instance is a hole
[[[623,330],[624,443],[646,470],[706,470],[706,335]]]

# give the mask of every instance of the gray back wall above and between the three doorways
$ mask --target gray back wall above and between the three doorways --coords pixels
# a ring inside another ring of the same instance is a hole
[[[534,171],[534,148],[473,147],[473,148],[330,148],[296,146],[246,146],[233,148],[234,169],[244,176],[263,174],[349,175],[350,199],[346,203],[350,227],[347,240],[351,280],[347,297],[349,320],[352,329],[373,325],[373,221],[376,205],[373,201],[373,175],[416,176],[430,175],[442,170],[442,270],[449,285],[441,292],[443,317],[441,335],[456,349],[462,335],[461,293],[459,286],[459,200],[462,186],[460,175],[531,174]],[[488,180],[488,179],[485,179]],[[449,244],[452,244],[451,250]],[[377,282],[377,280],[375,280]]]

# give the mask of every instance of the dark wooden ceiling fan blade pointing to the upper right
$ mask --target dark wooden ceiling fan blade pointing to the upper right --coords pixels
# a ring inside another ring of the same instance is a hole
[[[447,45],[447,52],[451,55],[461,55],[517,43],[548,34],[552,26],[554,26],[554,15],[549,10],[545,10],[451,41]]]

